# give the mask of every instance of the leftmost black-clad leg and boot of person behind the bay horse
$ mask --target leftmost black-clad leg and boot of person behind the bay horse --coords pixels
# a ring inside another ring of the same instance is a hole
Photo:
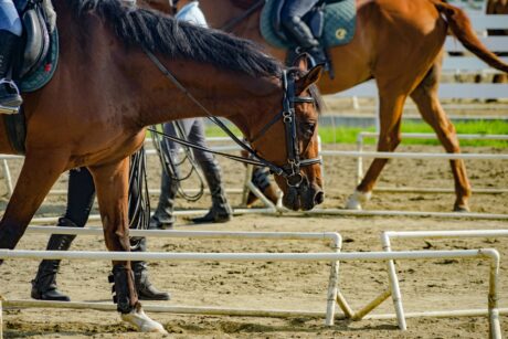
[[[84,227],[95,199],[95,187],[92,174],[86,168],[73,169],[68,173],[67,209],[59,220],[59,226]],[[53,234],[47,242],[49,251],[67,251],[75,235]],[[35,278],[32,280],[31,296],[41,300],[68,301],[56,286],[56,273],[60,261],[42,261]]]

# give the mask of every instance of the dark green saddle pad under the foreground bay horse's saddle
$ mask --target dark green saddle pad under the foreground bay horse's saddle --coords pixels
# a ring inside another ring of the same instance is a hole
[[[59,32],[56,29],[51,34],[50,41],[50,52],[46,55],[45,61],[42,65],[27,74],[20,82],[19,87],[21,92],[34,92],[42,88],[47,84],[53,74],[55,73],[56,66],[59,64]]]

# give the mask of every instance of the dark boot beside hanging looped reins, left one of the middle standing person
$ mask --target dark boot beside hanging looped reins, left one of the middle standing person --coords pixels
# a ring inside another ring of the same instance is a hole
[[[173,209],[178,186],[176,180],[162,171],[159,203],[150,219],[149,230],[170,230],[174,224]]]

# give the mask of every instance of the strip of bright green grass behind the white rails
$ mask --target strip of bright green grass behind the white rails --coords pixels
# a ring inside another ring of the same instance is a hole
[[[508,135],[508,123],[505,120],[478,120],[478,121],[457,121],[454,124],[458,134],[489,134]],[[236,135],[241,135],[237,128],[232,128]],[[319,127],[319,136],[322,144],[354,144],[360,131],[374,131],[373,127]],[[402,123],[403,133],[433,133],[432,128],[424,123]],[[215,126],[207,127],[207,136],[224,137],[225,134]],[[364,144],[373,145],[375,139],[367,138]],[[403,145],[440,145],[437,139],[410,139],[402,140]],[[461,140],[461,146],[490,146],[508,147],[508,141],[502,140]]]

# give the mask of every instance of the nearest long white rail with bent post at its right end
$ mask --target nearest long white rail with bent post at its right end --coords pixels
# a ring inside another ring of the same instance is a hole
[[[33,259],[104,259],[104,261],[211,261],[211,262],[337,262],[337,261],[388,261],[434,258],[487,258],[490,259],[489,276],[489,328],[491,338],[501,338],[497,303],[499,253],[494,248],[462,251],[403,251],[403,252],[351,252],[351,253],[129,253],[129,252],[73,252],[73,251],[22,251],[0,250],[0,258]]]

